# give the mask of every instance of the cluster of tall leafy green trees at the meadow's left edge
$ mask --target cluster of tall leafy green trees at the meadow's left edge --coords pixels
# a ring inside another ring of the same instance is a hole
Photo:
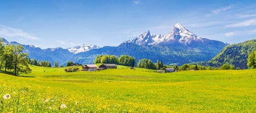
[[[22,45],[4,44],[0,39],[0,71],[10,72],[17,76],[20,72],[28,73],[32,70],[28,66],[28,54],[24,53]]]

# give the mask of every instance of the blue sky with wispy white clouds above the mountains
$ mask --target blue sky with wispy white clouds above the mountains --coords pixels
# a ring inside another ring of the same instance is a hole
[[[117,46],[176,23],[200,37],[236,44],[256,39],[256,1],[0,0],[0,37],[41,48]]]

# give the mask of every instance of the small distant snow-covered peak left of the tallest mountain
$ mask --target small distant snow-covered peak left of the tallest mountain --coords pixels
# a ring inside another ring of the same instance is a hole
[[[88,50],[92,50],[92,49],[99,49],[100,47],[96,46],[96,45],[89,45],[89,44],[83,44],[83,45],[77,45],[73,48],[69,48],[67,50],[69,50],[69,52],[72,53],[81,53],[81,52],[87,52]]]

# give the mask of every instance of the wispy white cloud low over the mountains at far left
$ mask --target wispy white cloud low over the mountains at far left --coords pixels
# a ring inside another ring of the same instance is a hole
[[[11,28],[9,26],[1,26],[0,36],[2,36],[2,37],[23,37],[25,39],[40,41],[40,38],[36,37],[33,34],[29,34],[29,33],[22,31],[22,29],[15,29],[15,28]]]

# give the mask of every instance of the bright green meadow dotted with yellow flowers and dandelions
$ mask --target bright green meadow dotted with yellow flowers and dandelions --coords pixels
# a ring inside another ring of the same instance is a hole
[[[158,74],[125,66],[96,72],[31,68],[22,77],[0,74],[0,112],[256,111],[255,69]]]

